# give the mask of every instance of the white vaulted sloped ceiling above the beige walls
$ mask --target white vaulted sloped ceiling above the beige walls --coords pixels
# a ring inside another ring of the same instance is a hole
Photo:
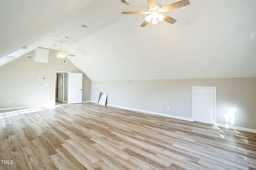
[[[146,27],[145,15],[122,15],[146,11],[146,0],[14,1],[0,2],[0,57],[23,46],[58,50],[63,40],[92,81],[256,77],[255,0],[190,0],[165,13],[173,25]]]

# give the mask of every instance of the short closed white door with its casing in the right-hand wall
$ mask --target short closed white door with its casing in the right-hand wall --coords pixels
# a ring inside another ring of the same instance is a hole
[[[193,87],[194,121],[216,123],[216,87]]]

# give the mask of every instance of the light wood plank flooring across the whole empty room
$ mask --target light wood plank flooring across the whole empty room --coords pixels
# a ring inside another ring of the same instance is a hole
[[[92,103],[0,111],[1,170],[256,169],[256,134]]]

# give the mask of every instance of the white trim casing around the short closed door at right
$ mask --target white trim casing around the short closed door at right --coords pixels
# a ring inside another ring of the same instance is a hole
[[[192,121],[195,121],[195,102],[194,102],[194,89],[195,88],[209,88],[214,89],[214,125],[216,125],[216,87],[210,86],[192,86]]]

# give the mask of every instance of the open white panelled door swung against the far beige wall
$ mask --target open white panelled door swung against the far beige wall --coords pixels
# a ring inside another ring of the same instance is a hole
[[[68,104],[82,103],[82,73],[69,73]]]

